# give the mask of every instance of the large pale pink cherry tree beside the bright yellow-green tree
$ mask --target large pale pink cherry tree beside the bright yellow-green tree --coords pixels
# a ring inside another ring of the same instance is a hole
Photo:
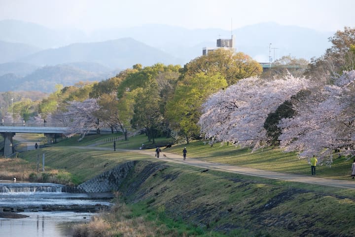
[[[236,146],[267,146],[264,122],[268,114],[308,84],[307,79],[291,75],[276,80],[242,79],[213,94],[203,105],[201,132],[213,141]]]

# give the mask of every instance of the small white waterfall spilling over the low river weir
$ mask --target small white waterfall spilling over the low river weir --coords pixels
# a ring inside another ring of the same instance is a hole
[[[63,187],[52,183],[0,183],[0,193],[61,193]]]

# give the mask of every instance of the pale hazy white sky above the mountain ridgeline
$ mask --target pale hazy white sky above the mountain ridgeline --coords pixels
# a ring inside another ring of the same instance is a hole
[[[196,28],[239,28],[261,22],[319,31],[355,27],[355,0],[0,0],[0,20],[49,28],[100,28],[160,23]]]

